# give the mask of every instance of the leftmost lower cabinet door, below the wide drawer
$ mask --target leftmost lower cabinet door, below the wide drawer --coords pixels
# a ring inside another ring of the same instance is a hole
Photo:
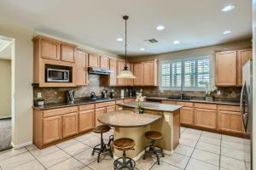
[[[49,144],[62,139],[62,116],[44,118],[43,131],[44,144]]]

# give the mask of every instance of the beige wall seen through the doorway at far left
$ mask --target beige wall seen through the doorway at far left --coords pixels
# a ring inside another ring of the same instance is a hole
[[[1,58],[1,57],[0,57]],[[11,116],[11,60],[0,59],[0,118]]]

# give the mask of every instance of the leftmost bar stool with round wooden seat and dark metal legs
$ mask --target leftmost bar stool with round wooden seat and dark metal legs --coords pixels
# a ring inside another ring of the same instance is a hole
[[[113,157],[112,150],[110,148],[107,149],[106,144],[104,144],[103,133],[107,133],[110,130],[110,127],[107,125],[100,125],[95,127],[93,130],[94,133],[101,133],[101,144],[97,144],[94,146],[91,156],[94,156],[95,152],[98,153],[97,162],[100,162],[100,157],[102,153],[108,152],[111,157]]]

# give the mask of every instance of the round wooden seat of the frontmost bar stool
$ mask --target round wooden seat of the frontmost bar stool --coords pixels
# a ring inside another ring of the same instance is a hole
[[[121,138],[113,141],[113,147],[117,150],[131,150],[135,146],[133,139]]]

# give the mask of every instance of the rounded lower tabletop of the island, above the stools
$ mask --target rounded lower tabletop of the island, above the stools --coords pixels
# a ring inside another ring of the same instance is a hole
[[[137,114],[133,111],[115,111],[98,116],[98,121],[112,127],[143,127],[159,120],[161,117],[161,115],[147,113]]]

